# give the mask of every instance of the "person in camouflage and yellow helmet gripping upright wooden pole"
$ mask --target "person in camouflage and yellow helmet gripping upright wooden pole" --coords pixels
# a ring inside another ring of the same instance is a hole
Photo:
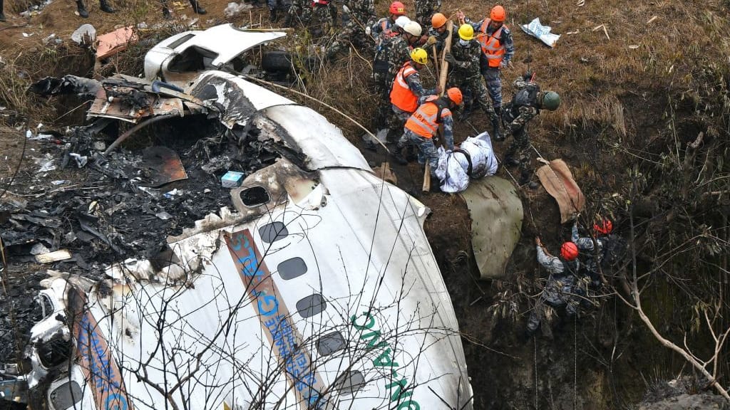
[[[475,40],[474,28],[469,24],[462,24],[458,28],[458,36],[458,42],[451,47],[451,53],[448,53],[445,58],[453,66],[453,71],[449,75],[449,83],[458,86],[464,93],[477,99],[480,107],[491,120],[492,136],[499,140],[501,138],[499,117],[492,108],[487,89],[484,87],[480,75],[479,64],[482,48]],[[472,103],[467,101],[466,104]],[[465,107],[465,112],[469,112],[469,109],[470,107]]]

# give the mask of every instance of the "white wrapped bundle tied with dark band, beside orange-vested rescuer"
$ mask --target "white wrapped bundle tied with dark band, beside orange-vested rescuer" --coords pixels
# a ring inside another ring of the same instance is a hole
[[[478,179],[496,174],[497,159],[492,150],[492,141],[485,131],[477,136],[470,136],[461,143],[461,150],[469,152],[472,158],[472,178]],[[436,177],[441,181],[441,190],[446,193],[457,193],[469,186],[469,160],[462,152],[452,152],[439,147],[439,167]]]

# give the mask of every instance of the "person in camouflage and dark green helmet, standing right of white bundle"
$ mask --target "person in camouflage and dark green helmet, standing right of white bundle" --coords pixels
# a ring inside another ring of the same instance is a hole
[[[532,73],[526,73],[514,82],[517,93],[512,101],[504,107],[504,133],[512,134],[512,144],[504,152],[504,163],[507,166],[519,166],[520,185],[529,182],[531,189],[537,188],[537,182],[530,181],[532,171],[529,169],[532,151],[527,123],[540,113],[540,109],[554,111],[560,107],[560,96],[554,91],[540,91],[539,85],[532,81]],[[504,141],[504,137],[496,138]],[[519,155],[519,158],[515,158]]]

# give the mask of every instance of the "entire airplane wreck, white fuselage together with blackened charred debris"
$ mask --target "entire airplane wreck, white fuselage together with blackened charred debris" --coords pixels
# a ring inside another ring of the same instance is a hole
[[[30,328],[13,383],[54,410],[472,409],[428,209],[312,109],[185,78],[35,86],[95,122],[45,159],[82,182],[0,202],[9,259],[68,256],[28,278],[35,306],[2,303]],[[119,122],[153,136],[100,147]]]

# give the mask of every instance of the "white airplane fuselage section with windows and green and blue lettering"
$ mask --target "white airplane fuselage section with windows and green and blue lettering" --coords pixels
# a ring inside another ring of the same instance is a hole
[[[222,71],[185,93],[282,158],[156,260],[47,279],[29,382],[53,379],[50,408],[471,409],[428,209],[312,109]],[[59,338],[70,360],[46,368]]]

